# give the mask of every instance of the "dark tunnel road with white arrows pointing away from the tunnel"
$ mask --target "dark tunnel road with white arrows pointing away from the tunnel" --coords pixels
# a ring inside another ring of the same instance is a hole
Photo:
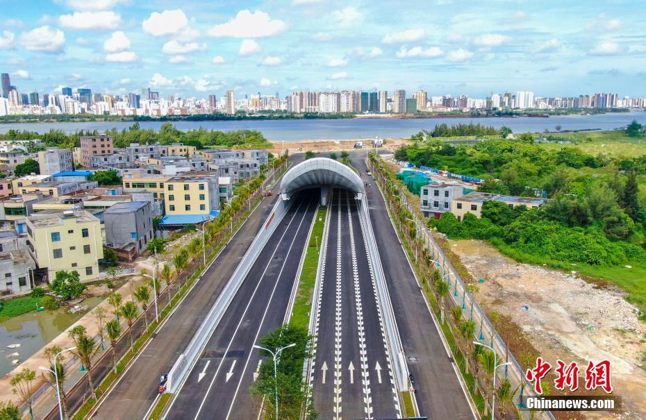
[[[253,346],[285,319],[319,198],[317,190],[293,198],[174,399],[169,419],[258,416],[260,402],[249,386],[263,358]]]

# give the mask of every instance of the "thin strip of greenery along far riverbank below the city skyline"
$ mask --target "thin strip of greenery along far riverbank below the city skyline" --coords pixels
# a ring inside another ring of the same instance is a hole
[[[119,115],[94,115],[94,114],[60,114],[60,115],[4,115],[0,117],[0,124],[15,123],[51,123],[51,122],[124,122],[124,121],[267,121],[281,119],[365,119],[365,118],[394,118],[394,119],[433,119],[433,118],[517,118],[537,117],[547,118],[556,115],[598,115],[610,112],[630,112],[629,108],[572,108],[556,110],[473,110],[470,112],[417,112],[415,114],[351,114],[351,113],[322,113],[305,112],[263,112],[247,114],[238,112],[235,115],[221,113],[197,115],[165,115],[163,117],[149,117],[147,115],[119,116]]]

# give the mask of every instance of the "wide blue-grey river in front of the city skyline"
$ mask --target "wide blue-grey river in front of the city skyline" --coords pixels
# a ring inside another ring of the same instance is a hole
[[[546,128],[555,131],[556,126],[562,130],[612,130],[630,124],[636,119],[646,124],[646,112],[611,112],[599,115],[560,115],[549,118],[356,118],[356,119],[274,119],[242,121],[174,121],[176,128],[182,131],[204,127],[209,130],[258,130],[268,140],[297,142],[299,140],[354,140],[370,137],[400,138],[409,137],[422,129],[431,129],[436,124],[459,124],[470,122],[486,126],[508,126],[514,133],[542,132]],[[0,124],[0,133],[8,130],[27,130],[44,133],[50,129],[74,133],[79,130],[106,131],[110,128],[122,130],[133,124],[131,121],[109,122],[53,122],[53,123],[11,123]],[[141,121],[142,128],[158,128],[162,121]]]

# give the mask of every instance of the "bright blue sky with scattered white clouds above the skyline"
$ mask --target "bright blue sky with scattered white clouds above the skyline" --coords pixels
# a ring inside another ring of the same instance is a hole
[[[0,71],[20,92],[646,96],[644,0],[0,0],[0,10]]]

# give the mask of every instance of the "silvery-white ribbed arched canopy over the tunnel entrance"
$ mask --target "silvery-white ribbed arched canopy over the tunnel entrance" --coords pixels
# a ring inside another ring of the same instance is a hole
[[[312,158],[292,167],[283,176],[281,198],[289,200],[293,194],[315,187],[321,188],[322,204],[326,203],[331,187],[345,188],[358,200],[365,195],[363,180],[347,165],[329,158]]]

